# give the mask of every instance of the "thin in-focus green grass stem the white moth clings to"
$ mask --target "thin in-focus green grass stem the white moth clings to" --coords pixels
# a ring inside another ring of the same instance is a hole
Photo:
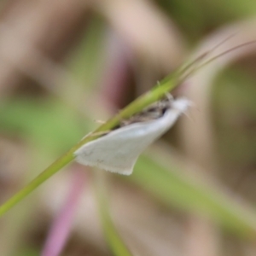
[[[187,79],[190,75],[197,72],[202,67],[207,66],[207,64],[218,59],[222,55],[226,55],[231,51],[255,43],[255,41],[249,41],[247,43],[237,45],[205,61],[207,55],[209,55],[209,53],[215,49],[213,48],[212,50],[207,51],[203,55],[196,58],[194,61],[186,63],[185,65],[177,68],[174,73],[167,76],[165,79],[162,79],[160,83],[154,86],[152,90],[149,90],[142,96],[139,96],[135,101],[131,102],[131,104],[116,114],[112,119],[109,119],[108,122],[99,126],[96,131],[84,137],[79,143],[73,146],[73,148],[71,148],[67,154],[61,156],[58,160],[46,168],[44,172],[39,174],[38,177],[35,177],[31,183],[28,183],[24,189],[21,189],[20,192],[11,197],[9,201],[6,201],[0,207],[0,216],[7,212],[11,207],[14,207],[16,203],[25,198],[26,195],[30,194],[34,189],[37,189],[41,183],[44,183],[44,181],[46,181],[49,177],[53,176],[55,172],[58,172],[63,166],[66,166],[68,163],[70,163],[74,159],[73,153],[82,147],[85,143],[89,143],[90,141],[95,140],[97,137],[100,137],[102,131],[112,130],[116,125],[119,125],[120,120],[130,118],[133,114],[142,111],[143,108],[146,108],[150,104],[157,102],[161,97],[165,96],[167,92],[177,87],[177,85],[180,84],[184,79]],[[218,45],[216,47],[218,47]],[[193,67],[196,63],[198,63],[199,66]]]

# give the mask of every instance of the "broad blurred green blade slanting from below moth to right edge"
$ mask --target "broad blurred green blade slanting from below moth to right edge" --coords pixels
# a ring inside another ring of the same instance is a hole
[[[155,151],[141,156],[129,179],[169,207],[204,213],[238,235],[256,235],[256,213],[253,209],[243,207],[218,188],[214,189],[184,173],[183,168],[172,160],[172,155],[169,154],[168,160],[162,159]]]

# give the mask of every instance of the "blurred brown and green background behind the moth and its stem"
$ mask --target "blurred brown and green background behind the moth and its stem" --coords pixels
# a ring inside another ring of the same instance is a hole
[[[0,201],[183,61],[256,41],[255,14],[251,0],[2,1]],[[131,255],[256,255],[255,52],[233,50],[181,84],[188,116],[131,177],[104,175]],[[58,255],[64,233],[59,255],[113,255],[96,173],[67,166],[7,212],[0,255]]]

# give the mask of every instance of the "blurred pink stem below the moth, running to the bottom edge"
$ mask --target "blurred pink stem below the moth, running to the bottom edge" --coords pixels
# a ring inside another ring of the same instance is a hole
[[[70,234],[74,213],[79,204],[79,198],[82,195],[85,183],[83,168],[75,167],[75,169],[73,183],[67,195],[67,201],[49,230],[49,236],[47,237],[41,256],[59,255]]]

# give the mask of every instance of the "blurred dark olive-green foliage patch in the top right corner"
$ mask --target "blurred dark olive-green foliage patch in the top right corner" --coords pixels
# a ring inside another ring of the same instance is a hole
[[[224,23],[244,19],[255,15],[256,3],[250,0],[225,1],[177,1],[160,0],[162,8],[172,19],[177,21],[193,41],[201,35]]]

